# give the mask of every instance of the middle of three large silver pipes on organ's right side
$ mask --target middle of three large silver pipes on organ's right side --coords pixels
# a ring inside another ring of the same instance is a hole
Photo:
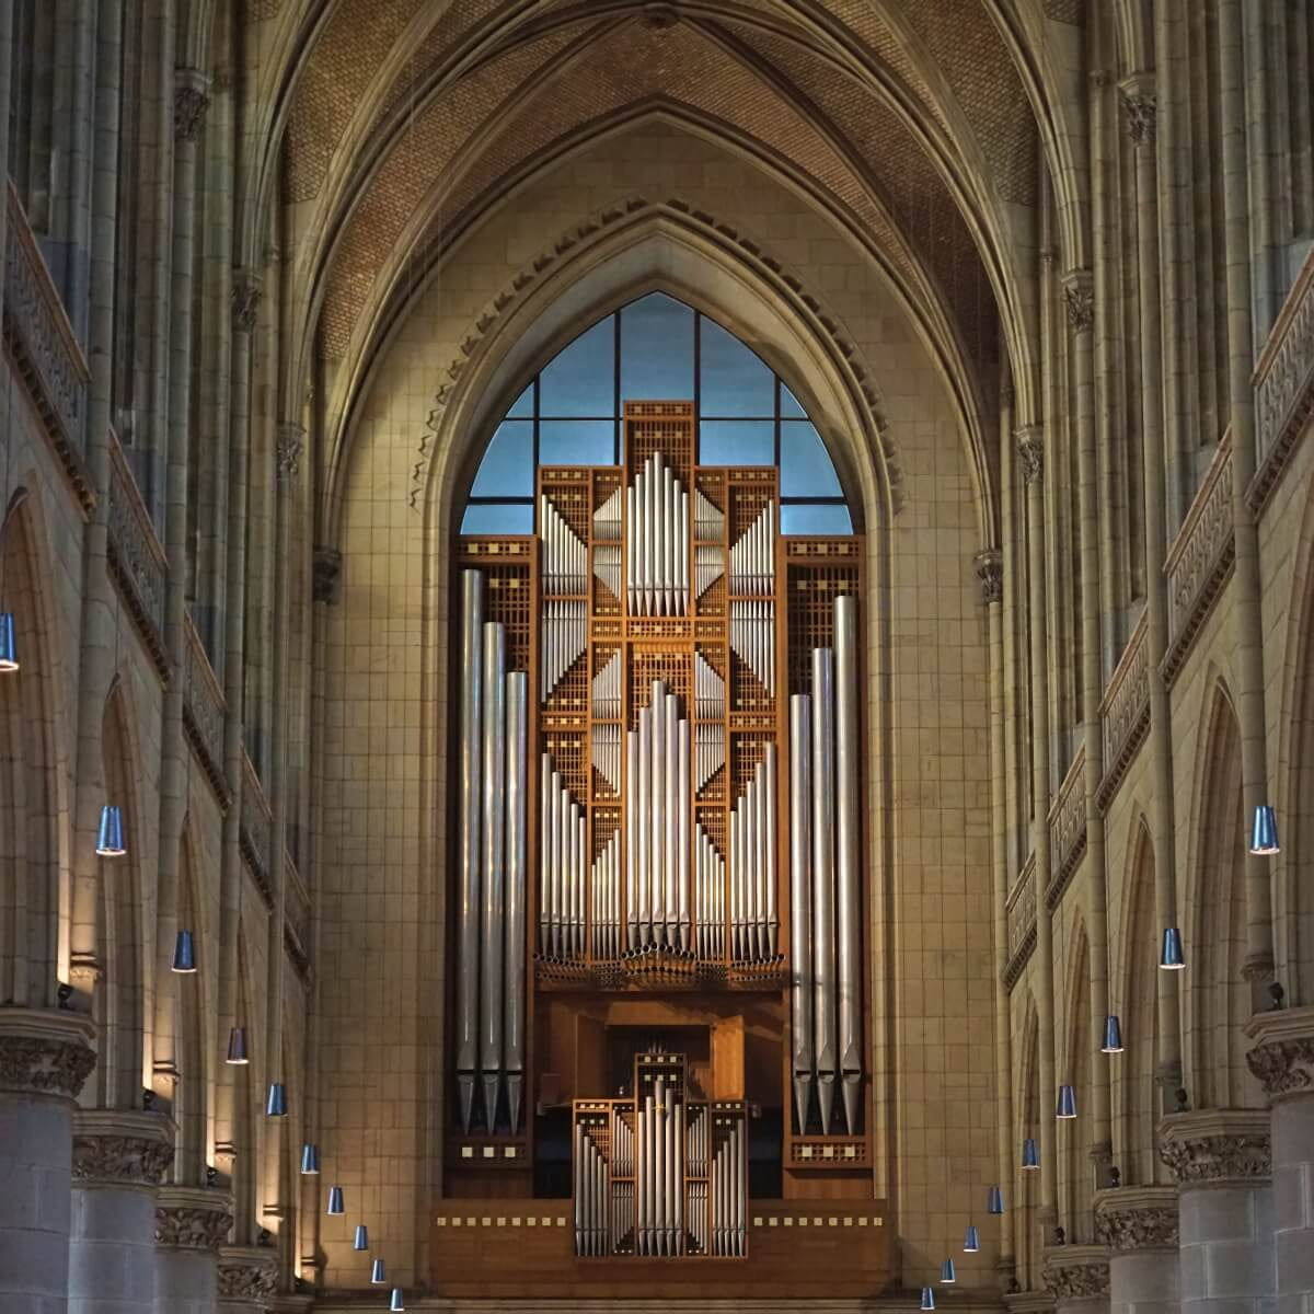
[[[834,653],[812,649],[812,1028],[821,1127],[830,1130],[836,1076]]]

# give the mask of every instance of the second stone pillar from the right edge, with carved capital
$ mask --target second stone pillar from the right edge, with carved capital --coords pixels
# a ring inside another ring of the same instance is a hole
[[[1159,1123],[1177,1183],[1181,1314],[1268,1314],[1273,1204],[1268,1114],[1204,1109]]]

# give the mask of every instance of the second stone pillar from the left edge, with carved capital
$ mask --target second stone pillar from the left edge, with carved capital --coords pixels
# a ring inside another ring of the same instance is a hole
[[[68,1314],[139,1314],[155,1292],[155,1192],[173,1162],[160,1113],[74,1116]]]

